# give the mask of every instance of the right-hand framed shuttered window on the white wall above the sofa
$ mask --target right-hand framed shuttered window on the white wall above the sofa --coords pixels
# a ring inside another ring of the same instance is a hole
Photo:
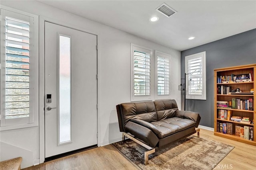
[[[170,97],[171,56],[156,51],[156,99]]]

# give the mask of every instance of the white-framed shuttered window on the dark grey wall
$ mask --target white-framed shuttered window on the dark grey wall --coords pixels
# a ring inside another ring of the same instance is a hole
[[[186,98],[206,100],[206,52],[185,57]]]

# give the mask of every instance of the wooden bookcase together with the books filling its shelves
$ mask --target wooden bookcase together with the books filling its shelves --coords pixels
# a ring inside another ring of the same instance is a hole
[[[223,81],[234,81],[235,77],[238,77],[237,75],[239,78],[242,76],[243,78],[247,78],[249,81],[251,80],[251,82],[223,83]],[[256,121],[256,83],[254,83],[254,80],[256,80],[256,64],[214,69],[214,135],[256,146],[256,126],[254,126]],[[236,91],[237,88],[239,88],[244,94],[230,93],[232,90]],[[250,94],[252,89],[254,89],[254,93]],[[226,108],[225,106],[217,107],[217,101],[218,106],[223,104],[229,108]],[[250,110],[247,110],[247,108]],[[238,116],[239,118],[248,117],[254,124],[223,120],[223,117],[227,116],[227,114],[228,117],[230,114],[231,116]],[[226,131],[226,133],[229,134],[220,133],[220,129],[221,131]],[[240,136],[236,136],[236,132],[240,134]],[[242,132],[246,133],[243,134]],[[241,133],[243,135],[241,135]],[[252,137],[252,140],[248,140]]]

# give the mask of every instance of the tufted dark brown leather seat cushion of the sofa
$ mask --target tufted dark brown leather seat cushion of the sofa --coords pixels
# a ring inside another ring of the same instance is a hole
[[[157,134],[160,139],[196,125],[194,121],[180,117],[167,118],[151,124],[160,132]]]

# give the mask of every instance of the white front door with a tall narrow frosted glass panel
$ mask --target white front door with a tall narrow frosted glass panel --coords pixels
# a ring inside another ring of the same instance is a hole
[[[45,158],[52,159],[97,146],[97,37],[45,21],[44,38]]]

